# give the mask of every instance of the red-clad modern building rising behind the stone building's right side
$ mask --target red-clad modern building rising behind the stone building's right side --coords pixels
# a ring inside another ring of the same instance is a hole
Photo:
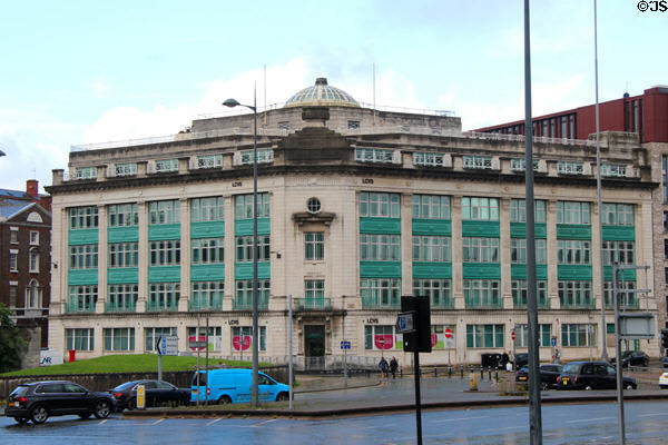
[[[599,103],[600,130],[640,135],[640,142],[668,142],[668,86],[657,86],[642,95]],[[480,132],[524,135],[524,120],[479,128]],[[533,136],[587,139],[596,134],[596,106],[588,105],[533,118]]]

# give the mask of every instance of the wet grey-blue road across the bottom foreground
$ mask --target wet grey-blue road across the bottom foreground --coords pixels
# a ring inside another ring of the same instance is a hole
[[[626,403],[629,444],[668,442],[666,402]],[[546,444],[617,443],[617,405],[544,406]],[[423,413],[425,444],[528,443],[527,407]],[[0,418],[0,444],[414,444],[415,415],[392,414],[321,421],[274,418],[122,418],[80,421],[55,417],[43,425]]]

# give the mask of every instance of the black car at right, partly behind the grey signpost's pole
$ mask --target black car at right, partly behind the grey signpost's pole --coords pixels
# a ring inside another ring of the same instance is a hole
[[[623,376],[625,389],[636,389],[636,379]],[[572,362],[563,367],[557,379],[559,389],[615,389],[617,369],[606,362]]]

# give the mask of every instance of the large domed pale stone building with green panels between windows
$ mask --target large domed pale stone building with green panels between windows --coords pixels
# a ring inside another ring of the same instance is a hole
[[[299,364],[340,360],[342,340],[351,362],[375,364],[381,350],[410,362],[394,328],[402,295],[431,297],[425,363],[510,352],[513,330],[525,350],[522,137],[462,132],[444,112],[366,108],[325,79],[257,122],[262,360],[286,359],[289,296]],[[623,132],[603,134],[602,147],[613,192],[599,209],[592,141],[534,145],[543,359],[552,342],[563,359],[599,355],[601,305],[612,323],[611,259],[652,260],[647,150]],[[212,354],[249,354],[252,115],[73,147],[49,191],[52,348],[141,353],[177,335],[186,352],[208,318]],[[652,289],[635,271],[622,286]],[[656,312],[652,293],[628,295],[625,309],[639,308]],[[628,346],[657,350],[656,340]]]

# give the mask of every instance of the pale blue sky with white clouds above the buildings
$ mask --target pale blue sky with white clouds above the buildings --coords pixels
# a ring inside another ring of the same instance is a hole
[[[600,101],[668,85],[668,11],[638,4],[598,1]],[[176,134],[254,85],[258,108],[326,77],[464,130],[523,119],[523,19],[521,0],[7,2],[0,188],[43,191],[72,145]],[[533,116],[595,102],[593,23],[593,0],[531,1]]]

